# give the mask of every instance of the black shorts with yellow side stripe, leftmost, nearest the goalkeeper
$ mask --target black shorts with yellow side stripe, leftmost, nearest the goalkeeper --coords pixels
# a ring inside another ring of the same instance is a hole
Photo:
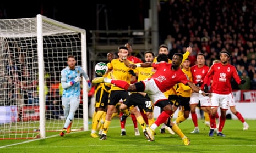
[[[101,86],[97,87],[95,94],[95,108],[106,109],[109,93],[106,92]]]

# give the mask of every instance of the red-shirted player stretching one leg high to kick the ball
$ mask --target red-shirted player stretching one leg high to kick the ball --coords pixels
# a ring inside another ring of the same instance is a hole
[[[188,47],[187,50],[191,50],[191,47]],[[161,56],[166,56],[161,54]],[[141,63],[141,64],[130,64],[130,67],[135,69],[136,67],[154,67],[156,72],[152,75],[151,78],[148,78],[144,81],[140,81],[134,84],[129,84],[122,80],[113,80],[104,77],[94,78],[93,83],[111,83],[115,84],[117,87],[126,89],[129,92],[146,92],[148,93],[150,99],[155,106],[162,108],[162,112],[157,117],[157,120],[150,127],[146,128],[146,131],[150,137],[151,141],[154,141],[154,131],[160,124],[165,123],[167,126],[171,126],[172,123],[167,123],[168,118],[173,114],[173,109],[170,101],[165,97],[163,92],[166,92],[168,89],[172,88],[177,83],[188,84],[192,90],[202,95],[210,95],[210,93],[205,93],[200,88],[195,86],[190,80],[187,79],[187,76],[180,69],[182,63],[183,55],[181,53],[175,53],[172,57],[172,63],[160,62],[160,63]],[[176,124],[175,124],[176,125]],[[174,126],[175,126],[174,125]],[[177,125],[176,125],[177,126]],[[178,127],[177,127],[178,128]],[[190,140],[188,137],[184,136],[183,143],[189,145]]]

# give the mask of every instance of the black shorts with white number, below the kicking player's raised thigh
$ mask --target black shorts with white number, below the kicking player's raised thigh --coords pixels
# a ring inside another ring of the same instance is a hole
[[[143,96],[139,93],[132,93],[126,99],[124,99],[123,104],[127,107],[138,106],[139,109],[143,109],[145,112],[153,112],[153,103],[148,97],[148,95]]]

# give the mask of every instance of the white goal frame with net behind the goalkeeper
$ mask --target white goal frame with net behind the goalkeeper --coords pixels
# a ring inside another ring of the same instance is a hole
[[[70,54],[87,71],[84,29],[42,15],[0,20],[0,139],[45,138],[62,130],[60,77]],[[85,80],[82,87],[72,131],[88,130]]]

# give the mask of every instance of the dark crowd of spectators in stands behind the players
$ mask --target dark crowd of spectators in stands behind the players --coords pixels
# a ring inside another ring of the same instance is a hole
[[[190,54],[192,65],[195,56],[204,53],[206,64],[211,65],[219,52],[231,53],[231,64],[248,84],[233,89],[256,89],[256,13],[253,1],[182,1],[170,0],[160,3],[159,19],[167,19],[164,25],[166,43],[170,55],[184,53],[187,46],[193,47]],[[167,40],[168,38],[168,40]]]

